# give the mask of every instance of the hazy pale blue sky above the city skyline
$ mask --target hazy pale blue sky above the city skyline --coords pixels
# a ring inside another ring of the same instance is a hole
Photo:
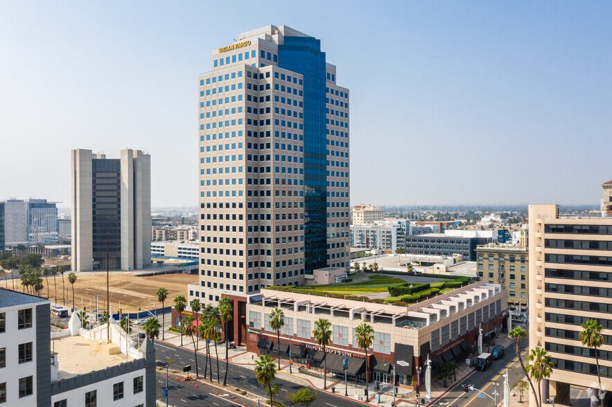
[[[0,0],[0,200],[70,201],[74,148],[150,152],[198,204],[198,73],[239,33],[321,39],[351,91],[351,203],[597,203],[612,3]]]

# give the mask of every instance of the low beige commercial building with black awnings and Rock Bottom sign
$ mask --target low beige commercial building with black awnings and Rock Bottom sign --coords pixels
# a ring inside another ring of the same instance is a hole
[[[280,343],[277,332],[270,329],[270,312],[277,307],[285,315]],[[419,383],[419,367],[421,383],[425,379],[428,357],[434,365],[464,363],[479,326],[485,335],[501,332],[507,317],[507,291],[499,284],[480,281],[400,307],[263,289],[260,295],[248,298],[246,309],[247,350],[273,357],[280,354],[286,360],[291,357],[296,367],[318,372],[326,359],[327,369],[338,381],[344,379],[342,361],[348,356],[347,376],[351,383],[365,381],[365,352],[356,343],[355,328],[367,323],[374,328],[374,341],[367,352],[369,381],[392,383],[395,365],[396,383],[414,389]],[[331,343],[325,353],[312,334],[319,318],[331,323]]]

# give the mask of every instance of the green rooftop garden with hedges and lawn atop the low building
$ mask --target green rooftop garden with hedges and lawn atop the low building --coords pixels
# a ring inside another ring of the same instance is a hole
[[[405,273],[403,273],[405,275]],[[329,298],[342,298],[392,304],[405,307],[422,300],[453,291],[471,282],[469,277],[447,276],[440,278],[437,274],[419,274],[419,277],[435,278],[435,282],[406,282],[392,275],[378,273],[357,273],[349,282],[327,285],[288,285],[285,287],[266,287],[277,291],[310,294]],[[365,280],[366,279],[366,280]]]

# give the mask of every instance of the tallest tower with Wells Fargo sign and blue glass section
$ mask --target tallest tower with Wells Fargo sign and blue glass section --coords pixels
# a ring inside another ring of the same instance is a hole
[[[320,40],[238,35],[200,75],[200,285],[216,302],[349,266],[349,91]]]

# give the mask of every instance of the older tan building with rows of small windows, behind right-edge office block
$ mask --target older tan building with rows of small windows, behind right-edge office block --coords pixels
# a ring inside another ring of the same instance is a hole
[[[489,243],[476,248],[476,272],[482,280],[500,284],[508,291],[508,304],[527,307],[529,250],[527,230],[519,231],[518,244]]]

